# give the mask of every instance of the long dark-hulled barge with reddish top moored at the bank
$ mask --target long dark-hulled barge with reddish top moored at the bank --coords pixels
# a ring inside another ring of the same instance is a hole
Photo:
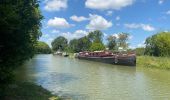
[[[109,64],[136,66],[135,53],[121,53],[109,51],[79,52],[77,58]]]

